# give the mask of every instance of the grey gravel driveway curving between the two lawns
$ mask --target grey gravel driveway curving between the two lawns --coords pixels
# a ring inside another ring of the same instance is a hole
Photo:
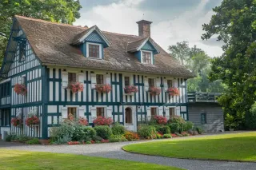
[[[166,158],[161,156],[145,156],[125,152],[122,146],[126,144],[134,144],[138,142],[122,142],[108,144],[85,144],[85,145],[25,145],[16,143],[6,143],[0,140],[0,148],[26,150],[37,152],[58,152],[58,153],[74,153],[86,156],[100,156],[106,158],[114,158],[120,160],[134,160],[139,162],[162,164],[191,170],[235,170],[235,169],[255,169],[256,163],[241,163],[213,160],[186,160],[176,158]]]

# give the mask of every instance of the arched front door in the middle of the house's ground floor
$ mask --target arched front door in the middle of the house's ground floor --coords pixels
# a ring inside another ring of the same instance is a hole
[[[136,131],[135,116],[130,107],[127,107],[125,110],[125,125],[127,130],[134,132]]]

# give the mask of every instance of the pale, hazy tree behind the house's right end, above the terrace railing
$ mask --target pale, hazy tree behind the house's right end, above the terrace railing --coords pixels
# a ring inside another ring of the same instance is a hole
[[[187,69],[190,69],[197,77],[187,81],[189,92],[224,92],[222,81],[210,82],[210,57],[205,51],[196,45],[189,47],[189,42],[177,42],[176,45],[169,46],[170,55],[176,58]]]

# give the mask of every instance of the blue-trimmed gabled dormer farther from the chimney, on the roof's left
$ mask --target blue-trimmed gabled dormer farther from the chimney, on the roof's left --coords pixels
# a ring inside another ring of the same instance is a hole
[[[110,41],[98,29],[92,26],[89,29],[77,34],[72,45],[78,45],[85,57],[104,59],[103,49],[110,46]]]

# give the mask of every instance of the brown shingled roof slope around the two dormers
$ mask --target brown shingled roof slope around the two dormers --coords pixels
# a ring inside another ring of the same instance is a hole
[[[140,63],[134,53],[127,52],[127,45],[129,42],[139,42],[142,37],[102,31],[111,45],[104,49],[104,60],[90,59],[82,55],[78,46],[72,45],[75,38],[86,33],[87,28],[21,16],[15,18],[25,32],[34,53],[42,61],[42,65],[194,77],[188,69],[179,65],[155,42],[154,45],[160,53],[154,56],[154,65]]]

